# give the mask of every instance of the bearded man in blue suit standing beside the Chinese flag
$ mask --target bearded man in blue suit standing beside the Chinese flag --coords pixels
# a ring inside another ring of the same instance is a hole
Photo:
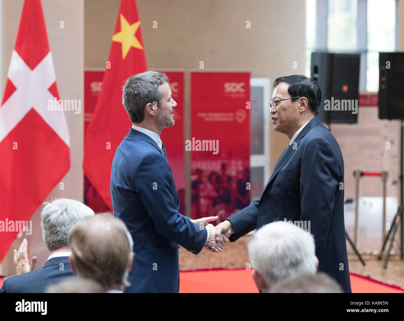
[[[178,248],[198,254],[204,245],[220,252],[209,221],[179,214],[179,199],[160,134],[174,125],[168,78],[147,71],[130,77],[122,103],[133,124],[116,149],[111,170],[113,215],[132,235],[135,252],[126,292],[179,292]]]

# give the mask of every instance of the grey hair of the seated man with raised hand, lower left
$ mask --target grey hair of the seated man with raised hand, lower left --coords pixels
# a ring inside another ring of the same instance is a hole
[[[45,202],[41,212],[42,237],[49,251],[69,247],[69,231],[81,218],[94,211],[74,199],[58,198]]]

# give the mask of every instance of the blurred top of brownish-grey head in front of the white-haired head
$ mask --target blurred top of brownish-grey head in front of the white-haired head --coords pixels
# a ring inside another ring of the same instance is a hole
[[[271,286],[269,293],[344,293],[341,285],[324,272],[300,273]]]

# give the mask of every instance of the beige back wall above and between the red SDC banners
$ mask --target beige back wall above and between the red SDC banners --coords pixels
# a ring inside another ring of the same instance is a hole
[[[105,68],[119,4],[85,1],[85,67]],[[185,71],[185,139],[190,136],[189,71],[250,71],[251,77],[271,82],[305,73],[305,1],[137,0],[137,6],[149,69]],[[272,171],[288,138],[273,132],[272,125],[270,131]],[[189,153],[186,157],[189,172]]]

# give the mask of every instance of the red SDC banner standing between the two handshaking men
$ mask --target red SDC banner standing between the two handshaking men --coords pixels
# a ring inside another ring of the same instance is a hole
[[[192,217],[225,218],[250,202],[250,74],[191,73]]]

